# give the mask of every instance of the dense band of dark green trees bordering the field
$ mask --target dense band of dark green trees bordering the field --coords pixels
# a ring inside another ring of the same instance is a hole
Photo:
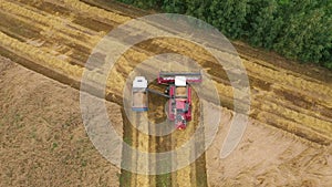
[[[331,0],[118,0],[204,20],[232,40],[332,70]]]

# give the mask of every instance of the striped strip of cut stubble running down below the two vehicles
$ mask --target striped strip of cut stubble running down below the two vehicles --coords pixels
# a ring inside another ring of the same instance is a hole
[[[152,98],[154,100],[154,98]],[[158,100],[155,97],[155,100]],[[179,148],[181,145],[188,141],[191,135],[194,134],[195,129],[198,126],[197,122],[200,122],[199,116],[199,102],[196,98],[194,98],[194,108],[193,113],[195,114],[193,117],[194,120],[188,124],[186,131],[177,131],[173,134],[164,135],[164,136],[152,136],[147,135],[143,132],[151,132],[156,131],[155,125],[158,124],[158,121],[164,121],[164,117],[160,118],[151,118],[151,122],[147,122],[148,116],[160,116],[160,113],[164,112],[164,108],[155,106],[157,110],[152,110],[152,112],[143,112],[143,113],[131,113],[128,118],[131,121],[125,120],[124,121],[124,128],[125,128],[125,137],[128,139],[127,142],[135,148],[137,148],[141,152],[146,153],[164,153],[164,152],[170,152],[175,150],[176,148]],[[163,101],[160,101],[159,104],[162,104]],[[163,103],[164,104],[164,103]],[[158,110],[159,108],[159,110]],[[165,124],[164,124],[165,125]],[[168,125],[174,125],[172,122],[168,123]],[[138,128],[143,128],[144,131],[138,131]],[[154,129],[153,129],[154,128]],[[200,128],[200,136],[196,137],[196,146],[198,148],[204,148],[204,128]],[[196,156],[197,153],[196,146],[191,147],[188,152],[186,152],[183,155],[174,154],[175,160],[189,160],[190,157]],[[172,170],[179,163],[172,162],[172,157],[148,157],[143,158],[139,157],[137,154],[131,155],[132,166],[137,167],[137,170],[139,168],[149,168],[152,170],[155,170],[157,174],[159,172],[165,170]],[[159,162],[156,162],[156,160]],[[156,164],[156,165],[154,165]],[[139,168],[138,168],[139,167]],[[155,168],[152,168],[155,167]],[[135,169],[135,168],[134,168]],[[158,174],[158,175],[147,175],[147,174],[135,174],[135,173],[128,173],[123,170],[123,178],[129,178],[129,183],[122,183],[123,186],[174,186],[174,187],[205,187],[207,186],[207,176],[206,176],[206,168],[205,168],[205,156],[201,155],[196,162],[193,164],[169,173],[169,174]]]

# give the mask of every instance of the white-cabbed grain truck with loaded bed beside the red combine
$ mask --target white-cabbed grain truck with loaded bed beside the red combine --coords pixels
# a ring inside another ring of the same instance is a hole
[[[147,80],[144,76],[136,76],[133,81],[132,98],[133,111],[146,112],[148,110]]]

